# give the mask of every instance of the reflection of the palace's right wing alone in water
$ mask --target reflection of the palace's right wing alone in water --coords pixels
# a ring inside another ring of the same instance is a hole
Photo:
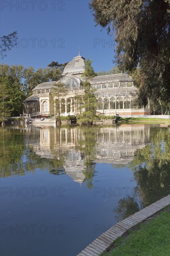
[[[127,164],[134,159],[137,149],[145,147],[149,137],[150,128],[145,125],[100,128],[96,135],[95,162]]]

